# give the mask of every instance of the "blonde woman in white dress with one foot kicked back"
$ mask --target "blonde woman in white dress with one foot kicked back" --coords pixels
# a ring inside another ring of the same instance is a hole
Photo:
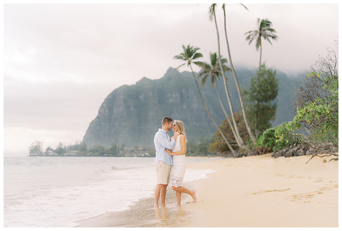
[[[175,146],[170,149],[165,149],[165,151],[172,155],[172,166],[170,170],[170,179],[169,184],[171,184],[172,189],[176,191],[176,200],[177,205],[181,205],[181,195],[182,193],[187,193],[194,199],[193,202],[196,202],[196,194],[195,191],[190,191],[183,187],[183,179],[186,170],[186,160],[185,160],[185,153],[186,153],[186,134],[184,130],[184,124],[180,120],[174,120],[172,125],[173,132],[180,132],[176,139]],[[173,137],[171,137],[172,139]]]

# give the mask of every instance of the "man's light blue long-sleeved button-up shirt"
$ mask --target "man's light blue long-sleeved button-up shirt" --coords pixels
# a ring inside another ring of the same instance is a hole
[[[172,157],[165,151],[165,148],[172,149],[175,145],[174,139],[170,142],[170,137],[164,129],[159,129],[154,136],[154,146],[156,147],[156,162],[161,160],[167,165],[172,165]]]

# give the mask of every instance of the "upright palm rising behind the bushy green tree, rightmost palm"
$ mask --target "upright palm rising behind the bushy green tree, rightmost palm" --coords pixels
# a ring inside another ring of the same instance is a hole
[[[248,36],[246,37],[246,40],[249,40],[249,44],[251,44],[251,42],[255,40],[255,48],[257,49],[257,51],[259,51],[259,47],[260,47],[260,61],[259,61],[259,73],[260,73],[260,66],[261,66],[261,38],[265,39],[266,41],[268,41],[271,45],[271,40],[269,40],[269,38],[272,38],[273,40],[277,40],[278,36],[276,36],[274,33],[276,33],[275,29],[271,28],[272,23],[270,21],[268,21],[267,19],[263,19],[260,21],[260,18],[258,18],[257,20],[257,24],[258,24],[258,29],[256,29],[255,31],[249,31],[246,32],[245,35],[248,34]],[[249,45],[248,44],[248,45]]]

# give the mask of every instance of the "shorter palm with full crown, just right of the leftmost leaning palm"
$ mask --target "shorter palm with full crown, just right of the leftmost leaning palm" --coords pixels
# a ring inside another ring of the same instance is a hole
[[[226,71],[232,71],[230,68],[228,68],[226,65],[223,65],[223,63],[227,63],[227,59],[222,59],[221,58],[221,62],[222,62],[222,67],[223,67],[223,71],[226,72]],[[244,146],[244,143],[240,143],[240,140],[238,139],[237,136],[240,136],[239,134],[236,134],[235,130],[234,130],[234,127],[231,123],[231,121],[229,120],[229,117],[227,115],[227,112],[226,110],[224,109],[223,107],[223,104],[222,104],[222,101],[221,101],[221,97],[220,97],[220,93],[219,93],[219,86],[218,86],[218,83],[217,83],[217,79],[220,79],[220,75],[222,76],[222,73],[221,71],[219,70],[220,69],[220,65],[219,65],[219,61],[218,61],[218,57],[216,55],[216,52],[214,52],[213,54],[210,53],[210,64],[207,63],[207,62],[204,62],[202,63],[201,65],[201,68],[202,68],[202,71],[201,73],[197,76],[198,78],[200,76],[203,76],[204,77],[202,78],[202,86],[204,86],[206,84],[206,80],[208,78],[208,76],[210,75],[210,82],[211,82],[211,85],[213,88],[215,88],[215,85],[216,85],[216,91],[217,91],[217,95],[219,97],[219,102],[220,102],[220,105],[222,107],[222,110],[228,120],[228,123],[229,123],[229,126],[231,126],[231,129],[232,129],[232,132],[233,132],[233,135],[234,135],[234,138],[236,140],[236,143],[239,147],[243,147]],[[228,78],[227,78],[228,79]],[[229,79],[228,79],[229,80]],[[230,80],[229,80],[230,81]],[[234,116],[234,112],[231,111],[231,114],[232,114],[232,117]],[[241,137],[240,137],[241,138]],[[241,138],[242,140],[242,138]]]

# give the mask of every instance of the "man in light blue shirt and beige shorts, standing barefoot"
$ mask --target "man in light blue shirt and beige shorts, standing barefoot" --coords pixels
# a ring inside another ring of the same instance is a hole
[[[175,132],[172,140],[168,135],[168,131],[172,127],[172,119],[164,117],[161,121],[161,129],[158,130],[154,136],[154,146],[156,147],[156,172],[157,172],[157,186],[154,190],[154,208],[158,209],[158,200],[160,196],[160,206],[165,207],[166,187],[169,184],[170,169],[172,165],[172,157],[165,151],[165,148],[172,149],[176,144],[179,132]]]

